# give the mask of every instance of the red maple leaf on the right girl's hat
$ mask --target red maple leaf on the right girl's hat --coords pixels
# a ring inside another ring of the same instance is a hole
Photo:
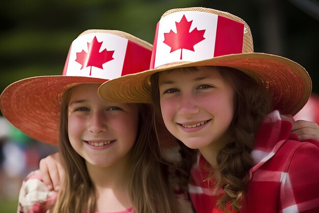
[[[195,52],[194,45],[205,39],[204,33],[206,30],[197,30],[195,28],[190,32],[192,22],[193,20],[188,21],[185,15],[183,15],[179,22],[175,21],[177,33],[174,33],[172,30],[169,33],[164,33],[164,43],[171,47],[170,53],[181,49],[180,59],[182,59],[183,49]]]

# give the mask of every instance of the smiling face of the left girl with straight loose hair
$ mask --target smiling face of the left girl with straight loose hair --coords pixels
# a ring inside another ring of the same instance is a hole
[[[72,88],[68,103],[71,146],[87,163],[105,168],[127,159],[138,131],[138,106],[111,103],[97,93],[99,84]]]

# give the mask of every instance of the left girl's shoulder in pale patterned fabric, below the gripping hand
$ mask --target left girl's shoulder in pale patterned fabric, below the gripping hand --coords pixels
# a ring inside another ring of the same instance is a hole
[[[40,172],[33,171],[22,182],[19,192],[18,212],[42,213],[54,203],[57,193],[43,183]]]

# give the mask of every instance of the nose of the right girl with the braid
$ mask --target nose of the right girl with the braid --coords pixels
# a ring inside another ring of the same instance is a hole
[[[190,117],[199,112],[196,99],[192,94],[182,94],[179,98],[178,114]]]

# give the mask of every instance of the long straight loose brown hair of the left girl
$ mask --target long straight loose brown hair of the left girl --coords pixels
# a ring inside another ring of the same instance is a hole
[[[52,212],[94,212],[94,185],[88,175],[85,159],[71,147],[68,138],[68,102],[72,88],[62,97],[60,115],[60,152],[66,170]],[[168,181],[168,164],[162,160],[155,132],[150,125],[151,107],[139,105],[137,140],[130,150],[128,193],[137,213],[175,213],[176,199]],[[105,198],[107,199],[107,198]]]

